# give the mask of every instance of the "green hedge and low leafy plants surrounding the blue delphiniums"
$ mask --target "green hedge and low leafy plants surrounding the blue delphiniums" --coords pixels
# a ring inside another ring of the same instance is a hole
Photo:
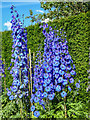
[[[74,15],[67,18],[61,18],[59,20],[54,20],[53,22],[48,22],[48,25],[53,29],[60,30],[64,29],[67,34],[67,45],[68,51],[71,55],[73,63],[76,66],[76,76],[74,79],[80,80],[80,89],[74,94],[68,96],[66,105],[67,105],[67,115],[69,118],[88,118],[88,93],[86,92],[87,84],[88,84],[88,62],[89,62],[89,12],[80,13],[79,15]],[[56,28],[55,28],[56,26]],[[34,26],[29,26],[27,29],[27,46],[28,49],[31,49],[31,52],[35,52],[38,50],[38,45],[42,44],[42,48],[44,47],[44,39],[45,36],[42,33],[42,28],[39,28],[39,24],[35,24]],[[12,31],[4,31],[2,33],[2,60],[5,59],[5,73],[6,73],[6,87],[10,87],[13,79],[9,74],[8,67],[11,62],[11,50],[12,50]],[[58,33],[58,35],[60,35]],[[43,50],[43,49],[42,49]],[[3,117],[10,118],[11,113],[9,113],[8,108],[9,99],[7,96],[4,96],[4,78],[2,78],[2,87],[3,87],[3,95],[2,95],[2,109],[3,109]],[[3,100],[4,98],[4,100]],[[6,100],[6,101],[5,101]],[[16,103],[14,104],[15,107]],[[49,111],[45,112],[42,110],[42,107],[39,107],[36,103],[37,109],[41,111],[41,118],[63,118],[64,116],[64,103],[59,93],[56,94],[56,97],[53,101],[49,102]],[[17,113],[19,106],[15,107],[15,111]],[[15,114],[14,111],[14,114]],[[13,111],[12,111],[13,114]],[[28,114],[28,111],[27,111]],[[16,115],[16,114],[15,114]],[[19,115],[19,113],[18,113]],[[18,116],[17,115],[17,116]],[[13,116],[14,117],[14,116]],[[19,116],[20,117],[20,116]]]

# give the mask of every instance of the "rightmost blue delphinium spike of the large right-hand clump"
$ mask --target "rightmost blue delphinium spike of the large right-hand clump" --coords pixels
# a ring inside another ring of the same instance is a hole
[[[68,84],[68,90],[71,91],[72,89],[70,86],[72,86],[72,85],[70,85],[70,83],[74,82],[73,76],[76,75],[76,72],[71,67],[71,64],[73,63],[73,61],[71,59],[71,56],[68,51],[68,46],[66,44],[67,44],[67,41],[65,38],[65,40],[61,43],[61,51],[62,51],[61,64],[64,64],[64,66],[65,66],[65,69],[63,69],[61,67],[61,70],[64,71],[63,79],[65,79],[64,83],[62,84],[62,87],[63,87],[63,90],[65,90],[65,87]],[[66,52],[64,53],[63,50],[66,50]],[[75,65],[74,65],[74,67],[75,67]],[[65,92],[65,91],[63,91],[63,92]],[[64,94],[62,94],[62,95],[63,95],[63,97],[65,97],[67,94],[65,94],[65,96],[64,96]]]

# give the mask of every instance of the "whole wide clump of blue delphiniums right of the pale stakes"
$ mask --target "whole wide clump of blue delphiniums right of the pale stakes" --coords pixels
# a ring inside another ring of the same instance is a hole
[[[70,85],[74,83],[73,77],[76,72],[68,51],[65,32],[61,30],[61,36],[59,37],[57,35],[59,30],[53,30],[51,26],[49,27],[49,33],[46,32],[48,24],[44,23],[40,28],[43,28],[42,32],[46,39],[44,40],[42,59],[39,59],[41,57],[40,51],[38,52],[39,56],[36,56],[39,62],[36,62],[37,65],[34,69],[33,94],[30,100],[32,103],[39,102],[45,109],[45,98],[53,100],[55,91],[61,92],[62,97],[67,96],[65,88],[67,87],[68,91],[72,90]],[[79,88],[79,85],[76,84],[76,87]],[[34,115],[38,117],[40,115],[39,111],[38,115]]]

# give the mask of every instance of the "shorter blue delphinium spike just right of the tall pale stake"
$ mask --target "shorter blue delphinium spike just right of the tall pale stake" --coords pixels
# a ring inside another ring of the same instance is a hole
[[[34,67],[34,75],[33,75],[33,89],[32,89],[32,95],[31,95],[31,103],[39,103],[44,107],[43,101],[43,69],[42,69],[42,60],[41,60],[41,52],[37,51],[36,55],[37,59],[35,61],[35,67]],[[35,117],[39,117],[40,113],[39,111],[36,111],[36,109],[33,109],[33,105],[31,106],[31,111],[34,112]]]

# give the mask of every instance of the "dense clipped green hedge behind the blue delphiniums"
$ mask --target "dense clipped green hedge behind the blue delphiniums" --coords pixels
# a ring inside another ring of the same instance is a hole
[[[53,29],[58,29],[60,30],[61,28],[66,31],[67,35],[67,41],[68,41],[68,48],[69,48],[69,53],[72,57],[73,63],[76,66],[76,76],[75,80],[76,82],[80,80],[80,90],[78,91],[78,94],[76,97],[73,96],[73,98],[68,96],[67,102],[69,100],[75,103],[83,103],[81,104],[82,106],[85,107],[85,104],[87,105],[88,101],[88,93],[86,92],[86,88],[88,85],[88,73],[87,70],[89,69],[88,63],[89,63],[89,46],[90,46],[90,41],[89,41],[89,19],[90,19],[90,12],[88,11],[87,13],[80,13],[79,15],[74,15],[71,17],[67,18],[61,18],[60,20],[54,20],[53,22],[48,22],[49,26],[52,26]],[[55,28],[56,26],[56,28]],[[41,44],[42,46],[44,45],[44,39],[45,37],[43,36],[42,29],[39,28],[39,24],[35,24],[34,26],[28,26],[26,27],[27,29],[27,39],[28,39],[28,49],[31,49],[31,52],[36,52],[38,50],[38,46]],[[7,71],[7,67],[10,65],[11,61],[11,50],[12,50],[12,36],[11,36],[12,31],[4,31],[2,32],[2,59],[5,59],[6,61],[6,87],[10,87],[11,85],[11,78],[12,76],[9,74],[9,71]],[[4,87],[4,83],[3,83]],[[57,94],[58,97],[59,94]],[[59,96],[60,99],[60,96]],[[60,101],[59,101],[60,102]],[[54,103],[56,106],[57,110],[58,109],[58,104]],[[59,112],[57,113],[56,108],[53,107],[51,108],[53,116],[55,115],[60,115],[63,113]],[[60,104],[61,105],[61,104]],[[69,110],[69,105],[68,104],[68,110]],[[72,106],[75,106],[74,103]],[[61,106],[63,107],[63,106]],[[73,107],[75,108],[75,107]],[[62,108],[63,109],[63,108]],[[54,111],[53,111],[54,110]],[[79,116],[81,116],[81,113],[83,113],[83,117],[88,112],[88,108],[86,108],[84,112],[83,107],[80,108],[81,112]],[[75,111],[75,110],[74,110]],[[73,110],[72,110],[73,112]],[[86,113],[85,113],[86,112]],[[43,116],[47,115],[48,113],[44,113]],[[78,115],[76,112],[75,114]],[[43,118],[42,116],[42,118]],[[48,114],[48,116],[50,116]],[[72,116],[70,114],[70,111],[68,111],[68,116]],[[74,116],[74,115],[73,115]],[[75,118],[75,117],[73,117]],[[80,117],[79,117],[80,118]]]

